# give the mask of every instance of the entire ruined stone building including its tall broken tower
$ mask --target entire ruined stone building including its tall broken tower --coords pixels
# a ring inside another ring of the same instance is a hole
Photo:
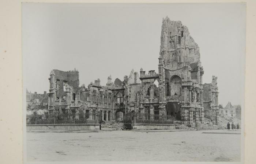
[[[207,106],[207,114],[217,124],[217,117],[213,117],[218,113],[217,77],[205,84],[204,93],[199,46],[180,21],[163,19],[158,60],[158,73],[132,70],[123,81],[117,78],[112,82],[110,75],[106,85],[97,79],[88,87],[79,86],[77,70],[52,70],[49,113],[100,112],[102,120],[109,121],[116,119],[117,112],[134,111],[159,117],[170,115],[193,127],[204,122]]]

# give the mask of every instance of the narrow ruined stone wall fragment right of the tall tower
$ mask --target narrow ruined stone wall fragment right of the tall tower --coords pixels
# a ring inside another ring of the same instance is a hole
[[[209,118],[213,124],[219,122],[219,103],[217,77],[212,76],[212,83],[204,83],[204,117]]]

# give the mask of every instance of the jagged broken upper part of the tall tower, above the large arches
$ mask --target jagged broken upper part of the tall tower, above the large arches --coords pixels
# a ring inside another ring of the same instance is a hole
[[[168,17],[162,21],[160,55],[168,65],[194,63],[200,61],[199,46],[195,43],[188,28],[180,21],[171,21]]]

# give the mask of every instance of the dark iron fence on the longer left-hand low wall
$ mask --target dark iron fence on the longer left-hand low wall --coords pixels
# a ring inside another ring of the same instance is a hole
[[[27,115],[27,125],[39,124],[97,124],[99,115],[96,113],[80,114],[31,114]]]

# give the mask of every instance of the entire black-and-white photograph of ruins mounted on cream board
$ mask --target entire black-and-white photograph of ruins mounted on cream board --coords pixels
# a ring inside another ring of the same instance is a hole
[[[246,3],[22,3],[23,162],[244,163]]]

